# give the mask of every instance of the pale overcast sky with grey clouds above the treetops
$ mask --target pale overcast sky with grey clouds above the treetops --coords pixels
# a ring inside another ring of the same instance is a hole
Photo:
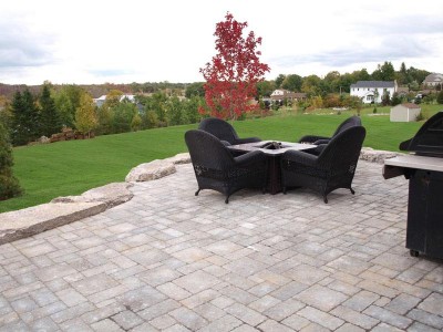
[[[443,72],[441,0],[13,0],[0,3],[0,83],[202,82],[228,11],[262,38],[267,80],[384,61]]]

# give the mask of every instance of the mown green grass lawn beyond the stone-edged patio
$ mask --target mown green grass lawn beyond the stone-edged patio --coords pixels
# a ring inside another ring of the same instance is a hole
[[[372,108],[371,108],[372,111]],[[439,111],[430,108],[430,114]],[[389,107],[379,107],[378,113]],[[297,142],[302,135],[330,136],[352,112],[327,114],[276,115],[235,122],[241,137]],[[422,123],[391,123],[389,115],[362,112],[367,128],[364,146],[398,151]],[[14,175],[24,195],[0,201],[0,212],[50,201],[54,197],[80,195],[87,189],[113,181],[124,181],[132,167],[186,152],[184,134],[197,125],[173,126],[136,133],[99,136],[93,139],[24,146],[13,149]]]

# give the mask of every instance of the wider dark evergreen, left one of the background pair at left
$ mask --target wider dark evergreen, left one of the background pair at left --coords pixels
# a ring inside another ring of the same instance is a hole
[[[14,94],[12,105],[12,143],[25,145],[39,136],[39,114],[34,97],[27,89]]]

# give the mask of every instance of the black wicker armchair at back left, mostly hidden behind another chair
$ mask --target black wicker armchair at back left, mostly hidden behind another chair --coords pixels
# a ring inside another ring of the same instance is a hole
[[[225,145],[260,142],[258,137],[239,138],[234,127],[226,121],[217,117],[208,117],[200,122],[198,129],[213,134]]]

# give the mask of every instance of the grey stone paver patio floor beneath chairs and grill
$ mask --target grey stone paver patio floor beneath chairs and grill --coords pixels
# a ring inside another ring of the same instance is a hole
[[[443,263],[410,257],[408,181],[195,197],[192,165],[0,246],[0,331],[442,331]]]

